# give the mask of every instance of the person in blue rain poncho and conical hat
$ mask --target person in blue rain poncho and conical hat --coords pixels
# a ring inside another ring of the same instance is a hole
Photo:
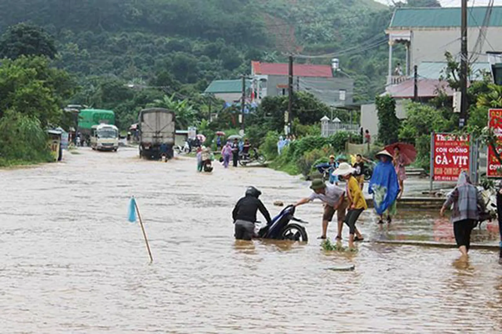
[[[387,222],[391,223],[391,215],[396,214],[396,199],[399,194],[398,175],[392,164],[393,156],[389,152],[383,150],[377,153],[376,159],[380,161],[369,180],[368,193],[373,195],[374,209],[380,215],[378,223],[384,223],[385,213]]]

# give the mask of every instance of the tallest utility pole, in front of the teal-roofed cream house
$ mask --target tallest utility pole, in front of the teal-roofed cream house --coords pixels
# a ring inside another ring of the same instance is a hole
[[[467,0],[462,0],[461,8],[461,27],[460,27],[460,119],[458,127],[465,126],[467,118]]]

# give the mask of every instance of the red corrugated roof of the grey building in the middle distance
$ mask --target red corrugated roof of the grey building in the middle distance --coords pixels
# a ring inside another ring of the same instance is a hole
[[[289,75],[289,65],[284,63],[251,62],[252,72],[256,75]],[[332,78],[331,65],[293,64],[296,77]]]

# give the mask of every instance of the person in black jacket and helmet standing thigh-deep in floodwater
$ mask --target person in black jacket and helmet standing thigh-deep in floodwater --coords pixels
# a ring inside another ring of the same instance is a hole
[[[251,186],[246,189],[245,196],[237,201],[232,211],[233,223],[235,225],[235,239],[251,240],[255,235],[256,213],[258,210],[267,220],[267,224],[272,223],[270,213],[267,211],[262,201],[258,199],[262,192]]]

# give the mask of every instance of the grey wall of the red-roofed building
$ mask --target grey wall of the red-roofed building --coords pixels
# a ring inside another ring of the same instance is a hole
[[[287,76],[269,76],[267,82],[267,96],[282,95],[282,89],[277,85],[288,85]],[[352,104],[354,94],[354,81],[349,78],[307,78],[294,77],[293,89],[312,93],[328,105]],[[345,102],[340,101],[340,90],[345,90]],[[285,89],[288,95],[288,89]]]

